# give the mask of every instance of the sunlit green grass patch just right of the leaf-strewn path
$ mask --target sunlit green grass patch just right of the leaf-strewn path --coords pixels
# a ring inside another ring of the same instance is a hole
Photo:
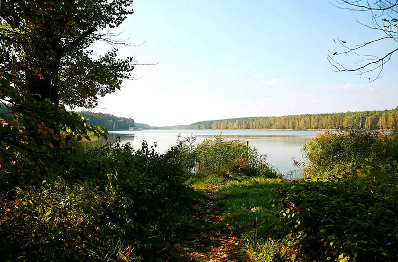
[[[197,190],[216,192],[223,223],[244,240],[241,252],[250,261],[273,261],[279,257],[280,214],[273,200],[280,179],[252,177],[239,181],[222,175],[197,174],[191,183]]]

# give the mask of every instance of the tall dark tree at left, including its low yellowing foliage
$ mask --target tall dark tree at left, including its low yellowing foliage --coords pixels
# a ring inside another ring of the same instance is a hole
[[[1,0],[0,153],[15,146],[45,153],[66,142],[106,135],[69,108],[97,106],[98,98],[131,77],[132,57],[118,58],[111,28],[129,14],[132,0]],[[97,41],[110,51],[93,56]],[[1,160],[1,159],[0,159]]]

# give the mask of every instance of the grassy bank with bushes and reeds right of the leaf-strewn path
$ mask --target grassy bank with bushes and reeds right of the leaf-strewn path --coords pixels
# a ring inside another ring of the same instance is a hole
[[[192,183],[218,201],[217,225],[243,243],[233,253],[240,261],[396,261],[396,138],[320,135],[307,148],[306,179],[199,175]],[[189,254],[201,261],[208,252]]]

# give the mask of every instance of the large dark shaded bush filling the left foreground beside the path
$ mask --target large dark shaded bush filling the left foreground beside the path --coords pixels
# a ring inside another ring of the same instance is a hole
[[[54,179],[0,192],[0,256],[27,261],[136,261],[160,256],[184,209],[183,168],[143,143],[77,143]],[[173,149],[171,149],[173,151]],[[17,185],[17,186],[15,186]],[[10,189],[11,188],[11,189]],[[158,255],[156,255],[158,254]]]

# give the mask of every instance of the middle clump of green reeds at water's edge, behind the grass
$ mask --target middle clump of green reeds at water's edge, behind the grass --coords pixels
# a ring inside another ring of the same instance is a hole
[[[266,163],[266,155],[249,147],[246,141],[224,140],[216,135],[214,140],[202,141],[196,148],[199,173],[215,173],[228,177],[277,177],[278,172]]]

